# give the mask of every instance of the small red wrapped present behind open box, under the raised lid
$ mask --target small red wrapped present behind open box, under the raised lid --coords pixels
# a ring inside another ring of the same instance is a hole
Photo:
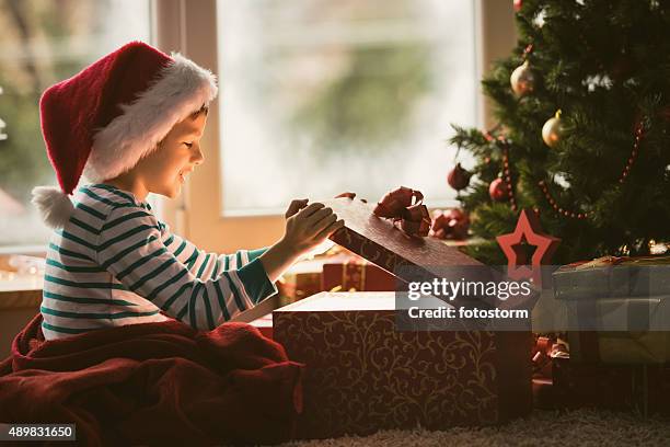
[[[325,291],[393,291],[395,287],[395,276],[357,255],[323,264]]]

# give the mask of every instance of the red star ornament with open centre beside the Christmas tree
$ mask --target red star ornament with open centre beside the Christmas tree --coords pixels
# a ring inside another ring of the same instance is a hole
[[[533,278],[538,286],[542,284],[540,266],[551,263],[561,243],[561,239],[542,231],[540,219],[530,209],[521,210],[513,232],[498,236],[496,240],[507,256],[507,275],[512,279]],[[521,248],[524,241],[536,247],[530,260],[531,268],[528,266],[528,255]]]

